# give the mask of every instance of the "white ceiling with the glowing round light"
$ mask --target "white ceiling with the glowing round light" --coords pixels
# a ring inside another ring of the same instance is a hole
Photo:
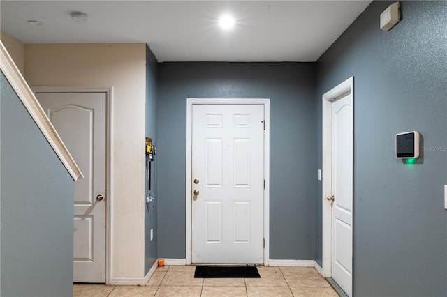
[[[147,43],[160,62],[308,62],[370,2],[1,0],[0,29],[23,43]],[[87,22],[73,22],[73,11]],[[223,13],[235,17],[233,30],[217,26]]]

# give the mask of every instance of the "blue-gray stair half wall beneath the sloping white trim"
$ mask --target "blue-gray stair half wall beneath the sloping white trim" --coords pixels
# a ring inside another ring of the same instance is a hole
[[[74,183],[1,73],[1,296],[72,296]]]

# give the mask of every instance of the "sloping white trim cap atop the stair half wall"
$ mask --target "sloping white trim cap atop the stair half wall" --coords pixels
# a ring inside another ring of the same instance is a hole
[[[0,47],[0,68],[6,79],[8,79],[10,85],[13,86],[15,93],[17,93],[17,96],[20,98],[24,107],[31,115],[31,118],[41,130],[43,136],[47,139],[47,142],[53,148],[54,153],[57,154],[62,164],[64,164],[73,180],[76,181],[78,178],[83,178],[84,176],[82,175],[78,165],[76,165],[75,160],[73,160],[73,157],[66,148],[64,142],[62,142],[61,137],[59,137],[56,129],[54,129],[54,126],[45,115],[45,112],[36,99],[36,96],[34,96],[33,91],[31,91],[31,88],[27,84],[26,80],[20,73],[1,41]]]

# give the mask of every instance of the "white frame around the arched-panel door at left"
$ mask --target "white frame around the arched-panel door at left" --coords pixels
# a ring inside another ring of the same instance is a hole
[[[105,284],[112,279],[112,98],[113,87],[89,87],[89,86],[31,86],[36,93],[105,93]]]

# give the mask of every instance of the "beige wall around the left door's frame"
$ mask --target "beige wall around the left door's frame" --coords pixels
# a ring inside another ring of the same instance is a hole
[[[29,44],[24,61],[30,86],[113,87],[110,281],[144,279],[145,44]]]

